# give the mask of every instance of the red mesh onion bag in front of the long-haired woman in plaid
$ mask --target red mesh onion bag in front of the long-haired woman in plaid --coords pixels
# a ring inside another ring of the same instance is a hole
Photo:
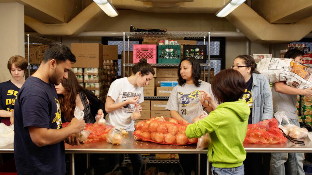
[[[63,128],[68,126],[71,122],[63,123]],[[86,123],[85,130],[90,131],[90,135],[88,139],[85,140],[85,143],[94,143],[100,140],[106,140],[107,133],[112,129],[113,126],[111,125],[101,125],[101,124],[93,124],[93,123]]]

